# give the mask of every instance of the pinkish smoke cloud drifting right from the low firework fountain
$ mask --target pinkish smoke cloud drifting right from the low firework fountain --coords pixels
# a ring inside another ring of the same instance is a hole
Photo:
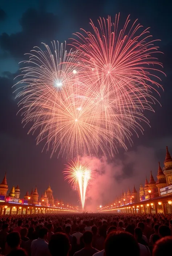
[[[99,205],[114,203],[116,196],[122,194],[122,190],[132,192],[135,185],[139,191],[140,184],[145,183],[147,175],[150,179],[150,171],[156,180],[158,159],[155,150],[139,146],[136,150],[127,151],[123,159],[116,156],[111,162],[104,157],[83,157],[89,162],[90,168],[95,170],[94,180],[91,180],[87,189],[86,209],[96,212]]]

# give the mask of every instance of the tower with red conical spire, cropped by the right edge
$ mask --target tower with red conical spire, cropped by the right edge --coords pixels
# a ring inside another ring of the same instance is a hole
[[[167,186],[169,186],[172,184],[172,158],[168,152],[168,147],[166,147],[166,156],[165,156],[164,165],[165,165],[164,174],[166,177]]]

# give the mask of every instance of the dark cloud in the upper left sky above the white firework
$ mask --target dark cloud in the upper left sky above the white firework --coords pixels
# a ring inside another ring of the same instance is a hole
[[[22,59],[24,53],[30,52],[42,41],[48,43],[57,37],[58,17],[53,13],[28,9],[20,20],[22,31],[0,36],[0,46],[13,57]]]

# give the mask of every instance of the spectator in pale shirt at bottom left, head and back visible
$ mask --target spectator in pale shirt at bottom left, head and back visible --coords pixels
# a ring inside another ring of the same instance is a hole
[[[33,240],[31,243],[32,256],[49,256],[48,243],[46,242],[48,235],[47,228],[41,228],[39,231],[38,239]]]

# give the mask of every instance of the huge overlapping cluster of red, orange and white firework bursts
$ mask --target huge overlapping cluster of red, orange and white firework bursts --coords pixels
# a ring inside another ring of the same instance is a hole
[[[98,27],[91,21],[92,33],[76,34],[74,52],[58,42],[31,51],[17,97],[22,122],[39,131],[37,144],[68,158],[112,157],[119,146],[127,149],[126,140],[132,144],[133,133],[143,133],[162,65],[154,57],[156,40],[136,23],[130,26],[128,17],[119,30],[119,15],[114,23],[100,18]]]

